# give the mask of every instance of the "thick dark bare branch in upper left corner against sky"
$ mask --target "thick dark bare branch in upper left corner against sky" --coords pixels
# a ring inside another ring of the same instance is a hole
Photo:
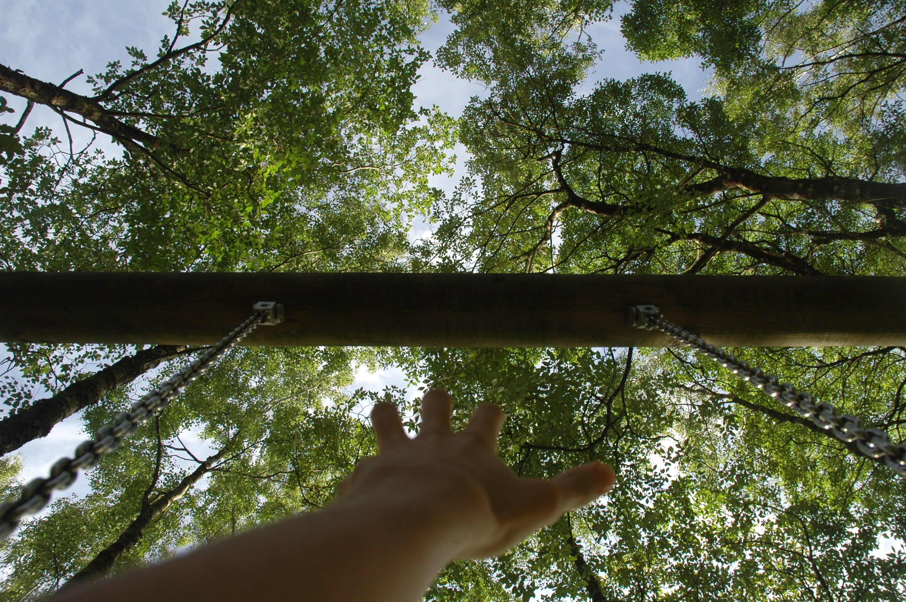
[[[92,121],[102,132],[119,140],[123,146],[134,152],[146,148],[158,148],[160,140],[146,131],[123,123],[111,111],[82,94],[65,90],[47,81],[36,80],[24,73],[16,72],[0,64],[0,90],[32,100],[55,110],[63,110],[82,116]]]

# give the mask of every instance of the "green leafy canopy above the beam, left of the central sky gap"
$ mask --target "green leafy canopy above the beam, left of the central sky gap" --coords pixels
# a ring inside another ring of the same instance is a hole
[[[452,129],[437,112],[411,107],[427,56],[415,45],[426,9],[418,1],[174,3],[178,33],[199,19],[200,42],[180,49],[165,37],[154,62],[130,48],[129,69],[111,62],[90,78],[94,97],[60,111],[72,127],[81,117],[89,119],[82,127],[113,132],[125,158],[72,148],[61,156],[38,130],[7,166],[3,226],[19,237],[0,251],[6,265],[392,263],[406,212],[432,198],[427,178],[444,168],[438,146]],[[113,125],[92,124],[92,111]]]

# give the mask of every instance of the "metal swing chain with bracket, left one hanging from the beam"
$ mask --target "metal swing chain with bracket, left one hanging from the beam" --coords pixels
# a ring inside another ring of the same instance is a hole
[[[51,467],[48,478],[38,477],[25,485],[15,502],[0,504],[0,541],[8,538],[19,521],[29,514],[42,511],[51,500],[55,489],[66,489],[80,470],[91,469],[101,460],[101,454],[110,454],[122,444],[122,439],[132,435],[141,425],[169,406],[174,397],[196,378],[202,376],[211,364],[222,358],[227,350],[245,339],[259,326],[271,326],[284,321],[284,304],[275,301],[258,301],[255,313],[236,327],[216,345],[207,349],[186,368],[165,380],[159,387],[132,404],[130,411],[121,412],[110,425],[99,428],[93,439],[75,448],[72,458],[63,457]]]

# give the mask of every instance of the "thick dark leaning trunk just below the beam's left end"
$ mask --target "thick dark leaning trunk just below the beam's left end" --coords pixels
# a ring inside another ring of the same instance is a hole
[[[58,422],[98,403],[109,391],[156,368],[162,361],[178,357],[185,349],[175,345],[142,349],[90,377],[72,383],[53,397],[40,399],[14,415],[5,417],[0,420],[0,455],[46,436]]]

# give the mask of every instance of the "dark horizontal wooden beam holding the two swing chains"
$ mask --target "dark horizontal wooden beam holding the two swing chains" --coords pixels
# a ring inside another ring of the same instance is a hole
[[[906,278],[468,273],[0,273],[0,340],[215,342],[255,301],[249,345],[662,347],[653,303],[718,345],[906,345]]]

